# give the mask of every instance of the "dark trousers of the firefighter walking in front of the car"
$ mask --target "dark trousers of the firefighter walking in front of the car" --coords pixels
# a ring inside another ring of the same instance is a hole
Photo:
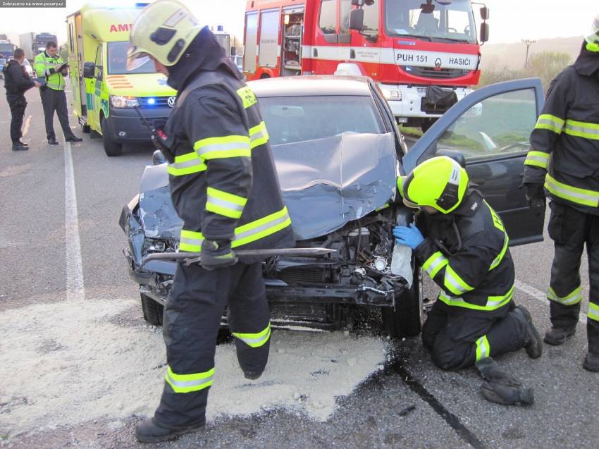
[[[154,414],[162,426],[205,422],[225,307],[242,371],[264,371],[271,326],[261,265],[238,263],[206,271],[197,264],[178,264],[163,319],[168,367]]]

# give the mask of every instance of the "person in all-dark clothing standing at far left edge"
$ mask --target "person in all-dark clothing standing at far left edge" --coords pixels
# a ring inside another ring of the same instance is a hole
[[[15,54],[11,61],[8,61],[2,69],[4,73],[4,87],[6,88],[6,102],[11,108],[11,140],[13,140],[13,151],[29,149],[29,145],[21,142],[23,132],[23,116],[25,116],[25,108],[27,100],[25,92],[32,87],[39,87],[39,82],[29,78],[29,75],[23,68],[25,61],[25,51],[23,49],[15,49]]]

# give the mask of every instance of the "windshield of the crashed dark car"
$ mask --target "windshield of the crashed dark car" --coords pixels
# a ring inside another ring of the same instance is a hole
[[[259,103],[271,145],[385,132],[370,97],[266,97]]]

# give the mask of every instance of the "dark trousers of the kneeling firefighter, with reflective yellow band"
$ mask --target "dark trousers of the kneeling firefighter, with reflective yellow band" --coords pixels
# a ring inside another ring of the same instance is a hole
[[[513,301],[492,316],[464,314],[455,308],[437,300],[422,327],[422,343],[440,369],[473,367],[485,357],[524,347],[526,330],[513,316]]]

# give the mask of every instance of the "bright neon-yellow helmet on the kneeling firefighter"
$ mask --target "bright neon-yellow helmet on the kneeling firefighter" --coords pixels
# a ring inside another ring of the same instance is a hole
[[[447,156],[428,159],[397,180],[406,206],[430,206],[442,214],[449,214],[462,203],[467,187],[468,173]]]

